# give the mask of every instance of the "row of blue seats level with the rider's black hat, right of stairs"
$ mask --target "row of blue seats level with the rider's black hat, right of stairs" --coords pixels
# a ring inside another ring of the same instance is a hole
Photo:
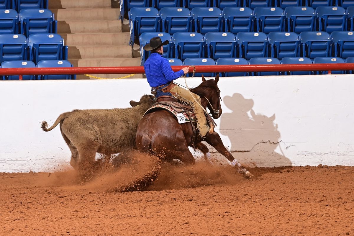
[[[302,32],[240,32],[237,35],[228,32],[211,32],[205,36],[199,33],[143,33],[140,36],[141,64],[150,55],[143,47],[151,38],[159,36],[164,45],[166,58],[202,58],[217,60],[223,57],[341,57],[354,55],[353,31],[334,31],[332,34],[321,31]]]

